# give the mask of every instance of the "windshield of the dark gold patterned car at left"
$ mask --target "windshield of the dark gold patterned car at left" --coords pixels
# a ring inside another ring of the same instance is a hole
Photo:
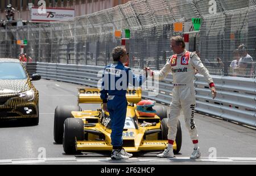
[[[27,79],[27,75],[20,63],[0,62],[0,79]]]

